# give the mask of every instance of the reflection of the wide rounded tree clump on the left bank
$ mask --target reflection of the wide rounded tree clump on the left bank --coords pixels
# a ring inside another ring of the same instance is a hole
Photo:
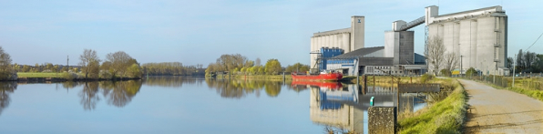
[[[104,98],[108,99],[108,104],[116,107],[124,107],[132,100],[141,88],[141,80],[129,81],[103,81],[100,82],[100,88],[103,89]]]

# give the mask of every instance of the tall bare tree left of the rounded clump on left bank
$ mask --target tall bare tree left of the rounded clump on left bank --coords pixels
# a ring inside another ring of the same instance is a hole
[[[100,58],[97,56],[97,51],[85,49],[83,50],[83,54],[79,56],[79,60],[81,60],[79,65],[82,67],[81,70],[85,73],[85,78],[88,78],[89,74],[91,78],[98,77]]]

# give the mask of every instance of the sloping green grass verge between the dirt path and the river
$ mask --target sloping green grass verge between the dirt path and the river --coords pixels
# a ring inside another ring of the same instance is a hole
[[[466,90],[454,79],[455,90],[442,101],[426,107],[414,117],[398,121],[399,133],[461,133],[466,118]]]

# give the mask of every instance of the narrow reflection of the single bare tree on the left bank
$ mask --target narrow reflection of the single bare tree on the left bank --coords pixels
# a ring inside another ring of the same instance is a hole
[[[83,90],[79,92],[79,97],[81,97],[81,105],[86,110],[94,109],[97,106],[98,98],[98,82],[86,82],[83,86]]]

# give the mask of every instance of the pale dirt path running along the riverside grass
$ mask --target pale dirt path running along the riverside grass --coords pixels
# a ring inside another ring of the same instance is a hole
[[[459,79],[468,98],[466,133],[543,133],[543,102]]]

